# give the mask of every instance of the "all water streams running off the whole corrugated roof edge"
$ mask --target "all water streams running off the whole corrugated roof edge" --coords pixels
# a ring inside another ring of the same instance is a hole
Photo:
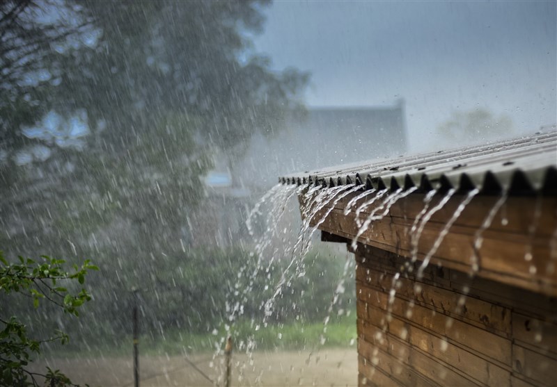
[[[267,220],[265,221],[265,232],[263,233],[260,238],[257,239],[255,244],[255,252],[254,254],[258,255],[258,265],[256,266],[256,270],[249,274],[248,278],[249,281],[244,288],[242,288],[241,281],[237,281],[235,286],[235,304],[230,304],[230,322],[232,323],[237,316],[242,315],[243,313],[243,306],[242,302],[246,301],[245,295],[253,291],[253,281],[256,279],[256,276],[260,272],[265,272],[268,274],[272,270],[272,266],[275,262],[275,256],[281,255],[283,258],[287,258],[285,266],[281,269],[280,278],[276,283],[272,284],[272,296],[267,299],[267,301],[262,305],[264,309],[264,317],[261,322],[256,322],[255,329],[265,329],[269,322],[269,318],[274,313],[274,306],[276,299],[281,297],[283,293],[283,288],[285,286],[290,286],[292,281],[295,281],[296,277],[304,275],[304,256],[308,253],[309,248],[311,247],[312,236],[315,230],[317,230],[329,217],[329,215],[335,211],[337,204],[345,199],[346,197],[350,197],[350,200],[347,201],[345,204],[344,210],[342,211],[343,215],[346,216],[350,214],[356,204],[363,200],[363,203],[356,207],[356,211],[354,214],[354,222],[357,226],[356,236],[352,240],[352,249],[356,249],[357,242],[359,238],[361,238],[366,231],[372,229],[374,222],[380,221],[384,219],[384,217],[389,216],[391,212],[392,206],[397,203],[400,199],[411,195],[411,193],[415,192],[417,188],[411,188],[408,190],[403,190],[399,188],[395,192],[389,193],[387,189],[384,190],[367,190],[365,192],[359,192],[365,188],[365,185],[356,186],[354,184],[347,185],[347,186],[337,186],[333,188],[324,188],[322,186],[286,186],[286,187],[278,187],[275,186],[267,194],[262,197],[262,199],[256,204],[253,208],[251,213],[249,214],[248,220],[246,220],[246,227],[248,227],[250,234],[253,236],[253,222],[259,215],[262,214],[261,211],[262,206],[270,205],[272,208],[267,212]],[[450,190],[444,192],[442,195],[439,195],[440,192],[438,190],[430,190],[427,192],[423,197],[423,207],[421,211],[415,215],[415,218],[411,224],[409,229],[409,259],[400,266],[398,270],[393,270],[393,273],[387,274],[385,272],[379,278],[384,278],[384,275],[388,275],[391,278],[390,281],[390,288],[387,285],[383,288],[380,283],[379,286],[386,292],[386,313],[384,314],[381,325],[382,329],[377,333],[375,337],[376,340],[384,340],[387,334],[391,334],[389,331],[389,323],[393,320],[393,307],[395,306],[395,302],[398,297],[406,297],[409,298],[407,300],[407,309],[405,311],[406,315],[398,316],[396,318],[410,318],[414,306],[416,305],[417,297],[421,295],[422,291],[422,281],[424,281],[425,270],[430,265],[431,259],[437,253],[439,247],[443,243],[445,237],[450,232],[451,227],[453,224],[458,220],[460,215],[462,215],[463,211],[466,207],[471,203],[474,197],[478,195],[479,190],[474,189],[467,192],[466,195],[460,199],[460,203],[456,206],[453,213],[450,215],[450,218],[447,222],[441,225],[439,229],[439,233],[437,236],[431,236],[431,231],[427,231],[427,240],[432,240],[432,244],[427,247],[427,250],[420,251],[420,241],[425,233],[426,226],[428,222],[432,220],[434,215],[441,211],[451,199],[455,197],[455,189],[451,188]],[[278,253],[273,250],[272,252],[267,252],[267,249],[271,247],[272,243],[270,240],[280,236],[281,230],[277,229],[276,224],[278,224],[278,220],[280,220],[281,216],[285,211],[285,205],[288,200],[290,200],[294,195],[301,196],[301,227],[299,232],[297,233],[297,238],[295,242],[292,240],[290,243],[285,243],[281,248],[283,249],[282,253]],[[432,204],[434,197],[439,195],[439,199]],[[371,196],[371,197],[370,197]],[[503,212],[503,206],[505,205],[505,201],[507,200],[508,193],[503,192],[501,197],[499,197],[492,208],[490,208],[489,213],[483,219],[483,222],[480,224],[480,227],[476,230],[473,236],[473,254],[470,257],[470,271],[469,271],[469,281],[473,279],[476,275],[478,270],[481,267],[481,256],[480,256],[480,249],[483,245],[483,233],[486,229],[488,229],[497,213]],[[379,204],[377,204],[379,202]],[[528,237],[531,243],[526,247],[524,259],[526,261],[531,261],[531,254],[532,254],[532,241],[535,236],[535,232],[538,229],[538,224],[540,221],[541,216],[541,198],[538,198],[535,207],[535,214],[533,217],[532,224],[528,227]],[[375,206],[373,206],[375,204]],[[368,208],[372,208],[368,210]],[[340,211],[340,210],[338,210]],[[361,218],[363,214],[366,215],[365,219]],[[501,214],[503,222],[506,220],[506,216]],[[508,221],[506,221],[508,222]],[[428,228],[431,230],[431,228]],[[424,249],[424,243],[422,243],[421,249]],[[551,239],[551,262],[555,262],[557,260],[557,230],[554,231],[553,237]],[[420,258],[420,263],[418,261],[418,257],[423,256]],[[265,258],[264,258],[265,257]],[[334,312],[334,307],[338,302],[338,297],[341,295],[345,288],[345,281],[347,278],[347,274],[350,272],[350,268],[353,266],[351,265],[352,261],[347,261],[344,267],[344,275],[343,277],[336,283],[336,289],[334,290],[334,295],[331,299],[329,304],[329,308],[327,309],[327,314],[324,316],[323,320],[323,329],[322,334],[320,335],[320,345],[323,345],[326,342],[326,334],[327,334],[327,327],[329,324],[329,320],[331,319],[331,314]],[[265,267],[264,267],[265,266]],[[548,267],[549,270],[554,270],[554,267]],[[531,269],[531,274],[535,274],[537,268]],[[408,274],[415,272],[414,275],[416,276],[416,281],[414,284],[414,290],[410,291],[409,293],[405,293],[402,296],[398,296],[398,289],[402,286],[401,281],[407,281],[404,278],[411,278]],[[239,278],[243,277],[239,275]],[[270,279],[270,277],[269,277]],[[426,281],[427,282],[427,281]],[[470,284],[471,285],[471,284]],[[239,290],[238,288],[242,288]],[[469,293],[470,286],[468,284],[464,284],[461,292],[461,296],[457,299],[455,304],[454,310],[447,310],[447,320],[446,320],[446,329],[450,329],[452,326],[453,319],[450,318],[450,313],[461,313],[462,306],[466,302],[466,297]],[[379,293],[378,293],[379,297]],[[396,309],[396,313],[402,313],[399,309]],[[338,311],[338,313],[343,313],[343,311]],[[434,312],[432,312],[434,313]],[[404,332],[402,332],[404,334]],[[406,335],[408,331],[406,331]],[[281,334],[279,333],[279,336]],[[405,338],[403,338],[405,340]],[[443,341],[444,340],[444,341]],[[249,361],[253,361],[253,349],[255,349],[255,340],[253,336],[249,338],[249,343],[246,344],[246,352],[250,355]],[[445,351],[449,347],[449,343],[446,338],[441,340],[441,351]],[[319,349],[317,349],[319,352]],[[313,352],[309,355],[308,361],[312,358]],[[374,353],[373,356],[377,356],[377,353]],[[318,359],[319,356],[314,356],[314,359]]]

